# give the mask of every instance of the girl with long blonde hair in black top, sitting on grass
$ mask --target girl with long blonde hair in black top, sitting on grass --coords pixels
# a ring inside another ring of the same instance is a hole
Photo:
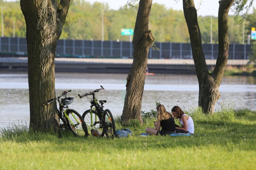
[[[147,134],[153,135],[166,135],[176,133],[174,116],[167,112],[165,107],[161,104],[157,105],[157,117],[156,117],[155,128],[146,128]],[[160,130],[160,126],[162,129]]]

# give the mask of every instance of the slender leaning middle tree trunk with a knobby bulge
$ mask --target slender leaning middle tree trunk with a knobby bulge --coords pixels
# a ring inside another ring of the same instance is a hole
[[[148,62],[148,50],[154,42],[151,30],[148,30],[152,0],[140,0],[133,36],[133,65],[127,76],[124,99],[123,122],[130,119],[142,121],[141,103],[145,84],[145,71]]]

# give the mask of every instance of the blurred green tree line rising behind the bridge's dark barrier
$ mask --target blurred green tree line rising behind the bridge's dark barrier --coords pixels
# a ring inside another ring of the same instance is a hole
[[[4,36],[26,37],[25,19],[20,10],[20,1],[5,2],[0,0],[4,15]],[[139,6],[139,5],[135,5]],[[130,9],[129,9],[130,8]],[[129,11],[129,12],[128,12]],[[125,12],[109,9],[109,4],[85,0],[74,0],[63,27],[60,39],[102,39],[102,12],[104,16],[104,40],[129,41],[129,36],[121,36],[122,28],[132,28],[136,22],[138,8],[128,7]],[[256,9],[245,18],[245,43],[251,27],[256,27]],[[241,17],[229,16],[229,43],[242,44],[243,25]],[[202,43],[210,43],[211,16],[198,16]],[[0,22],[0,28],[2,27]],[[149,29],[156,42],[189,43],[189,33],[182,10],[168,9],[162,4],[153,3],[149,19]],[[2,31],[2,30],[1,30]],[[212,42],[218,43],[218,18],[212,16]]]

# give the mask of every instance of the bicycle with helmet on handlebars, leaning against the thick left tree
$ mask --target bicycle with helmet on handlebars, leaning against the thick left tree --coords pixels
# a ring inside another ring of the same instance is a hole
[[[58,117],[59,117],[59,127],[61,129],[70,129],[72,133],[75,136],[85,136],[87,137],[88,130],[86,123],[84,122],[84,119],[81,117],[81,115],[73,110],[69,109],[67,105],[71,104],[73,101],[73,97],[69,97],[69,91],[63,91],[62,94],[59,97],[56,97],[54,99],[50,99],[47,102],[45,102],[43,105],[48,105],[51,102],[54,102],[55,100],[59,103],[59,109],[58,109]],[[67,97],[68,96],[68,97]]]

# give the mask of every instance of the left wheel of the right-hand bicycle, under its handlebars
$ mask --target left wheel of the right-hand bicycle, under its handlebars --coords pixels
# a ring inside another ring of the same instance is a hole
[[[96,111],[92,110],[92,113],[90,113],[90,110],[87,110],[83,113],[82,118],[83,118],[84,122],[86,123],[87,129],[89,132],[92,129],[96,129],[96,130],[102,132],[102,129],[100,128],[100,124],[99,124],[99,116]]]

